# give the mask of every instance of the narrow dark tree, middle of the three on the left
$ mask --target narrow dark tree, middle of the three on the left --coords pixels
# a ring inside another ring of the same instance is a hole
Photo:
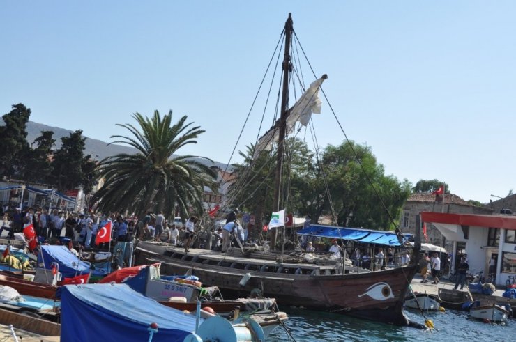
[[[41,135],[34,139],[29,158],[26,162],[25,179],[28,182],[47,182],[49,175],[52,173],[52,156],[54,144],[54,132],[41,131]]]

